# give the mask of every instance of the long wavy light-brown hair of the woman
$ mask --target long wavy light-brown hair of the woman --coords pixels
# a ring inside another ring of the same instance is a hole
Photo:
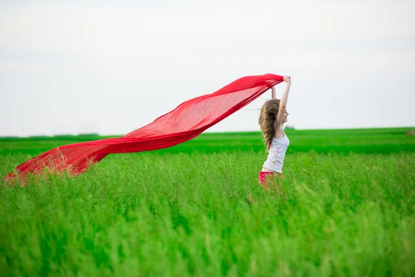
[[[275,134],[274,123],[279,109],[279,99],[267,100],[261,107],[258,124],[264,136],[266,150],[270,150]]]

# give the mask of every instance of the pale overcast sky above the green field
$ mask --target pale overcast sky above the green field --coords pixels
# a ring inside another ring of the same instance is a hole
[[[415,1],[34,2],[0,0],[0,136],[127,134],[264,73],[297,129],[415,126]]]

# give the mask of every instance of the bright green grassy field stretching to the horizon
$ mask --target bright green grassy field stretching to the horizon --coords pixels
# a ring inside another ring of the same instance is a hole
[[[286,130],[258,185],[259,132],[113,154],[77,177],[0,186],[1,276],[415,276],[415,136]],[[95,135],[0,138],[0,175]]]

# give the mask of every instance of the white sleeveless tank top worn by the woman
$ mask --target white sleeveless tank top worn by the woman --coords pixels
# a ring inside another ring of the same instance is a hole
[[[282,139],[273,138],[270,150],[268,151],[268,157],[263,167],[282,173],[282,164],[284,163],[288,145],[290,145],[290,140],[285,132]]]

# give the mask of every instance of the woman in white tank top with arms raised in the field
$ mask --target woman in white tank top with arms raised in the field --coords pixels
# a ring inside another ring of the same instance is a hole
[[[261,107],[259,114],[259,126],[268,151],[268,157],[259,172],[259,184],[268,188],[268,180],[271,177],[282,177],[282,165],[286,150],[290,141],[288,140],[283,125],[287,122],[288,112],[286,111],[288,93],[290,92],[291,79],[284,76],[286,89],[281,100],[275,98],[275,87],[272,88],[272,99],[267,100]]]

